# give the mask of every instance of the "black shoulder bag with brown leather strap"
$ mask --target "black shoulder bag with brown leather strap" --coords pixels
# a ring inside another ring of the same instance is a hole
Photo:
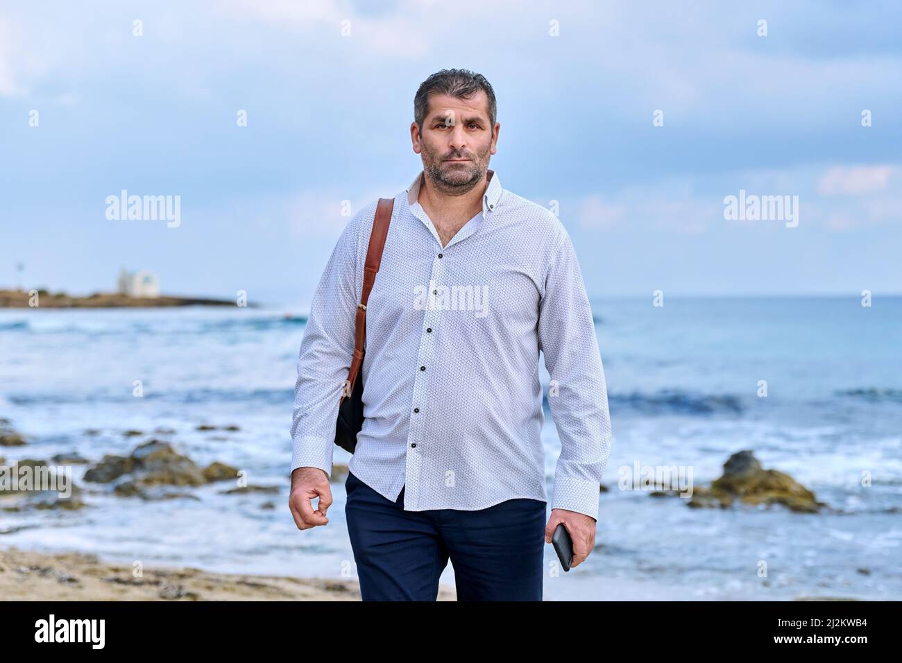
[[[373,218],[373,232],[370,244],[366,249],[364,263],[364,290],[360,303],[357,304],[357,315],[354,319],[354,355],[347,372],[345,388],[341,401],[338,402],[338,418],[336,419],[336,445],[353,454],[357,447],[357,433],[364,426],[364,381],[358,380],[364,364],[364,344],[366,341],[366,302],[370,299],[370,290],[376,281],[376,272],[382,262],[382,249],[385,248],[385,237],[391,223],[391,210],[394,198],[379,198],[376,214]]]

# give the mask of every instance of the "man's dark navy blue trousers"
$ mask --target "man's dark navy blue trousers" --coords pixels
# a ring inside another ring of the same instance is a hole
[[[364,601],[435,601],[450,558],[458,601],[541,601],[547,502],[404,511],[347,473],[345,518]]]

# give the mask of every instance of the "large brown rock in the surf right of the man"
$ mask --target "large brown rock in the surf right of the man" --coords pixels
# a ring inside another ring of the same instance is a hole
[[[723,464],[723,476],[710,488],[695,488],[689,506],[723,509],[735,500],[751,506],[782,504],[798,513],[816,513],[826,506],[788,474],[763,469],[749,450],[730,456]]]

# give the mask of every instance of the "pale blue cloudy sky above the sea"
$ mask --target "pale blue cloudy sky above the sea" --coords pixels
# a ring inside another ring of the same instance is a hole
[[[420,82],[464,68],[591,297],[902,293],[902,3],[679,5],[2,2],[0,288],[125,267],[304,306],[348,215],[421,170]],[[123,189],[178,226],[109,218]],[[741,191],[795,220],[729,217]]]

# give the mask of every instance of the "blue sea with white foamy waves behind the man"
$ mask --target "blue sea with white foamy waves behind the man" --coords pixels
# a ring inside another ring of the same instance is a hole
[[[170,308],[0,311],[0,417],[29,438],[7,463],[78,452],[97,460],[167,439],[198,464],[244,469],[279,494],[117,498],[80,481],[87,509],[0,511],[0,546],[78,549],[120,561],[294,576],[354,576],[344,488],[325,528],[288,511],[302,311]],[[545,579],[548,600],[902,598],[902,299],[602,299],[594,302],[613,447],[597,545]],[[543,380],[548,374],[542,369]],[[143,382],[143,397],[133,382]],[[759,397],[759,381],[767,397]],[[548,494],[559,442],[544,430]],[[239,431],[196,430],[200,424]],[[174,433],[158,434],[157,428]],[[87,435],[97,429],[99,434]],[[143,437],[124,437],[139,429]],[[695,484],[751,449],[831,511],[695,510],[621,490],[621,468],[691,466]],[[336,448],[336,463],[349,456]],[[863,486],[862,473],[870,474]],[[271,502],[274,508],[264,508]],[[23,528],[23,529],[18,529]],[[546,562],[556,556],[548,546]],[[349,563],[350,562],[350,563]],[[759,576],[762,564],[767,576]],[[453,568],[443,582],[453,584]]]

